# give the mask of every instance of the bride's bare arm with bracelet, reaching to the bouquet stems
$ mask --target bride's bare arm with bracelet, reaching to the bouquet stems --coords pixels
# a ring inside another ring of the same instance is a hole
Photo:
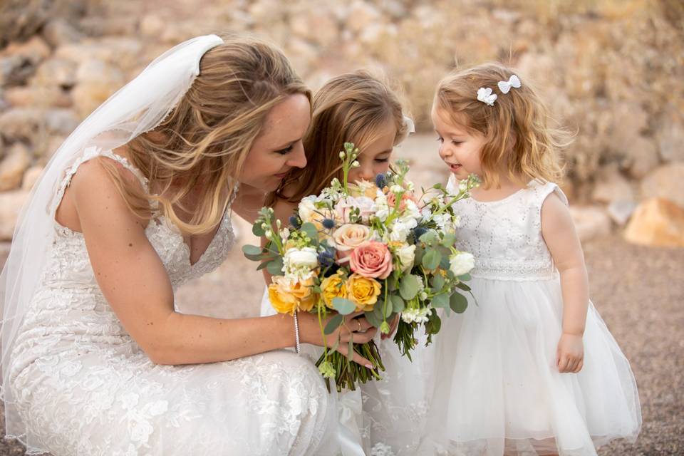
[[[97,160],[81,165],[69,190],[81,222],[95,278],[121,323],[160,364],[227,361],[294,345],[289,316],[222,319],[178,314],[162,261]],[[301,340],[321,344],[315,316],[302,314]],[[368,333],[341,333],[369,340]],[[331,336],[336,337],[333,333]],[[334,338],[328,336],[330,341]]]

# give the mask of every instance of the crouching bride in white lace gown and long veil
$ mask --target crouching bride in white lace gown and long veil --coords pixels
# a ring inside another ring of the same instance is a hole
[[[310,98],[269,44],[202,36],[56,152],[0,276],[6,433],[28,454],[338,452],[334,395],[281,350],[296,337],[322,345],[315,316],[226,320],[174,302],[225,259],[233,212],[253,221],[306,165]],[[361,321],[342,341],[373,337]]]

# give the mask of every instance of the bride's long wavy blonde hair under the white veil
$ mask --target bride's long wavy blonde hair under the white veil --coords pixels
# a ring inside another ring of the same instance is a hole
[[[232,199],[232,184],[266,116],[295,94],[311,101],[311,91],[279,49],[257,38],[224,37],[202,56],[199,76],[170,115],[128,143],[130,162],[147,177],[150,195],[124,180],[113,162],[103,164],[138,217],[155,216],[152,199],[182,232],[210,232]],[[183,204],[189,195],[199,201]],[[179,210],[192,214],[189,222]]]

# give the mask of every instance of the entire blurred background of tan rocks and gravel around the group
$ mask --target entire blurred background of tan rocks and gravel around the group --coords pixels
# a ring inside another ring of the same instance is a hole
[[[576,132],[563,189],[592,297],[641,388],[637,444],[601,454],[684,453],[682,0],[0,0],[0,264],[21,204],[73,128],[167,48],[225,32],[278,44],[314,90],[357,68],[385,74],[418,128],[395,156],[423,185],[447,178],[429,118],[447,71],[494,60],[534,81]],[[235,224],[240,244],[257,242]],[[235,249],[177,299],[255,316],[255,267]],[[0,443],[0,454],[23,450]]]

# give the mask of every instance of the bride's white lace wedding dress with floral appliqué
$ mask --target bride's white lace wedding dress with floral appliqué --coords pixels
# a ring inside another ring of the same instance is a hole
[[[57,204],[78,165],[66,172]],[[187,244],[164,217],[145,229],[174,289],[212,271],[234,244],[227,210],[207,251],[190,264]],[[192,366],[152,363],[105,300],[83,236],[55,223],[56,237],[9,370],[29,448],[66,455],[336,455],[337,417],[313,363],[289,351]],[[121,286],[125,286],[122,284]]]

